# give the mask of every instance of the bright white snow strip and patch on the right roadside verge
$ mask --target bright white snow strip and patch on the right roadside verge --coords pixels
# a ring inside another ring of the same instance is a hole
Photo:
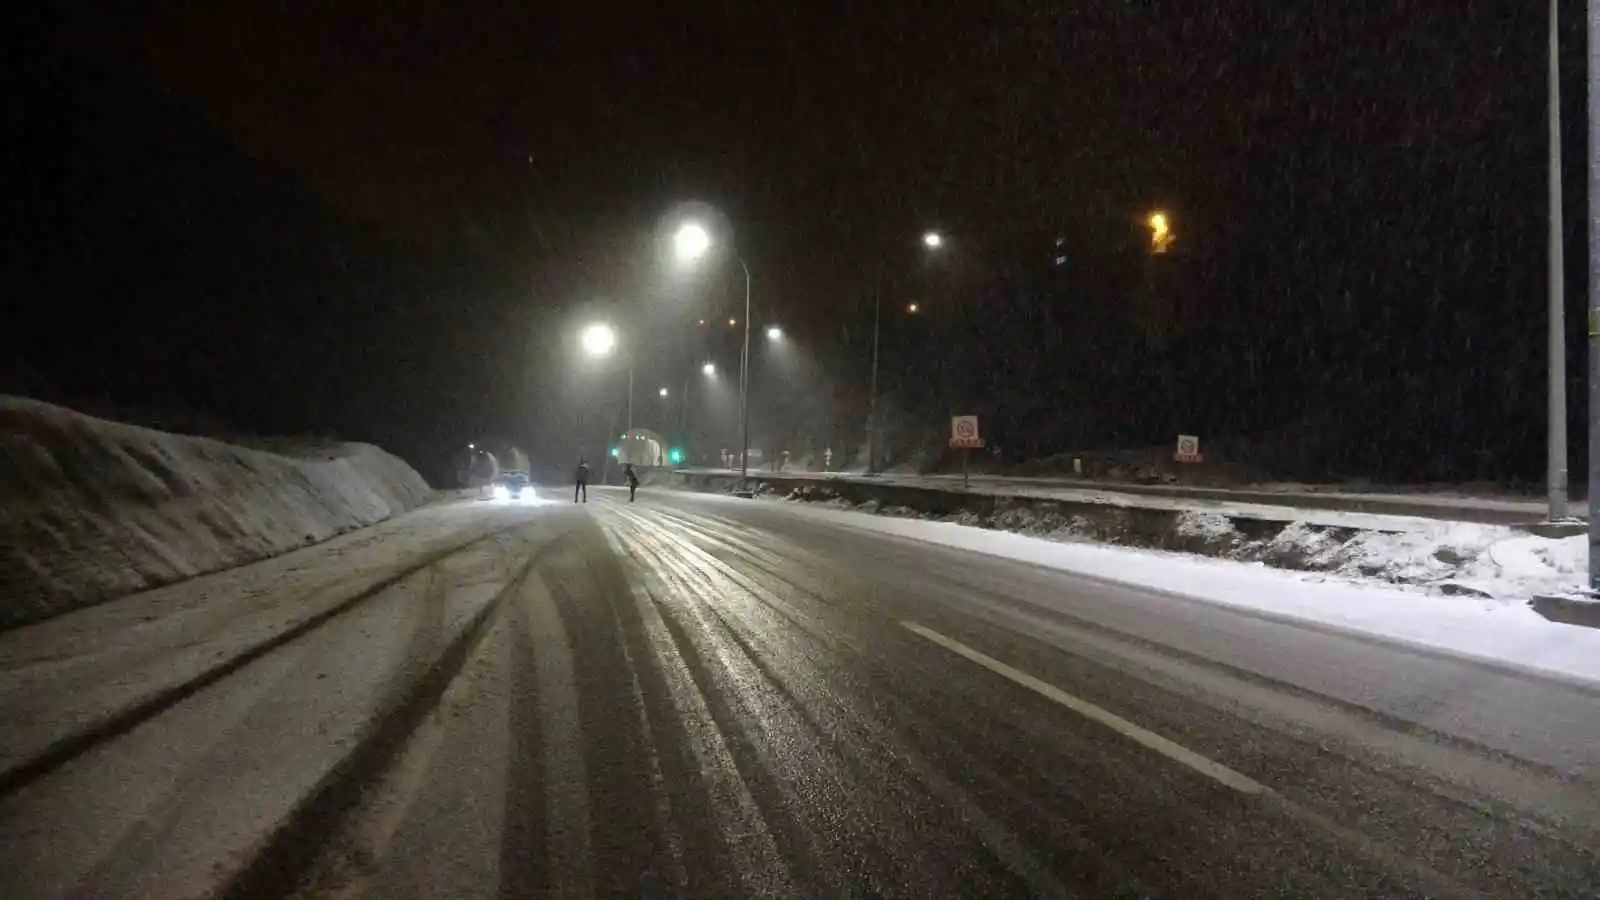
[[[899,535],[941,546],[1003,556],[1141,588],[1184,594],[1224,604],[1314,621],[1398,641],[1509,663],[1549,674],[1600,682],[1600,629],[1557,625],[1522,602],[1475,596],[1442,596],[1346,575],[1286,572],[1190,554],[1130,549],[1094,543],[1062,543],[1010,532],[971,528],[957,522],[864,516],[821,504],[792,508],[802,516],[824,517],[853,528]],[[1213,522],[1214,525],[1214,522]],[[1454,524],[1451,524],[1454,525]],[[1205,527],[1205,524],[1197,524]],[[1547,541],[1480,532],[1506,528],[1454,525],[1443,540],[1374,543],[1374,559],[1395,565],[1429,565],[1429,548],[1482,546],[1483,556],[1467,569],[1483,581],[1509,585],[1558,580],[1552,570],[1582,570],[1582,538]],[[1400,538],[1406,538],[1405,535]],[[1493,540],[1491,540],[1493,538]],[[1488,541],[1486,544],[1483,541]],[[1576,541],[1576,543],[1574,543]],[[1549,546],[1549,544],[1558,544]],[[1560,578],[1571,580],[1568,575]],[[1048,601],[1048,599],[1046,599]]]

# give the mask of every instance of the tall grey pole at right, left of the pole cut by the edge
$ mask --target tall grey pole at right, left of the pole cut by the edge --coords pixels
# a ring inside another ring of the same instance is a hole
[[[1549,46],[1549,127],[1550,127],[1550,221],[1549,221],[1549,410],[1546,434],[1546,479],[1549,488],[1550,520],[1566,517],[1566,322],[1563,311],[1565,283],[1562,275],[1562,66],[1557,38],[1557,0],[1550,0]]]

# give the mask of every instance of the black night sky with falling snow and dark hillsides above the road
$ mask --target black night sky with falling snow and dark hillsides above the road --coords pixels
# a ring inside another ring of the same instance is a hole
[[[859,447],[883,285],[902,456],[976,412],[1013,461],[1192,431],[1278,477],[1542,471],[1541,3],[58,10],[8,62],[3,389],[435,480],[491,434],[565,466],[616,428],[619,370],[571,340],[606,317],[635,421],[730,445],[694,375],[736,364],[738,264],[659,258],[699,202],[790,335],[757,354],[763,447]]]

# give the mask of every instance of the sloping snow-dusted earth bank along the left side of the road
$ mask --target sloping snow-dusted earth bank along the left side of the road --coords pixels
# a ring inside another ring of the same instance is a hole
[[[0,628],[266,559],[430,496],[368,444],[266,452],[0,396]]]

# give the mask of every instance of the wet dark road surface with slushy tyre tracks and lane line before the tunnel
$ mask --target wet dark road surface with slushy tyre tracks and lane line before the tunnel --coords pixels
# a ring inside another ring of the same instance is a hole
[[[0,897],[1600,895],[1592,687],[778,503],[424,514],[496,530],[3,636]],[[91,679],[160,684],[72,738]]]

